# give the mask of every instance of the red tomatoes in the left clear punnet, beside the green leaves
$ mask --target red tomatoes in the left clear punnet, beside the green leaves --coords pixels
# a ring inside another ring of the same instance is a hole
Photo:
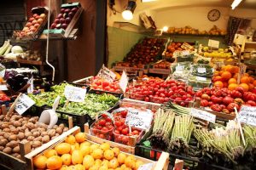
[[[102,114],[102,118],[92,124],[90,132],[98,138],[113,139],[113,122],[111,118]]]

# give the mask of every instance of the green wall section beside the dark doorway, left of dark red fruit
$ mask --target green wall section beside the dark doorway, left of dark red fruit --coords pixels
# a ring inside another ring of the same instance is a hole
[[[121,61],[131,48],[145,35],[108,26],[108,67]]]

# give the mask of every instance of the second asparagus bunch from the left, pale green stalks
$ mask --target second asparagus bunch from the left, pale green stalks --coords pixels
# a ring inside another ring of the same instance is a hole
[[[187,153],[189,151],[189,139],[194,127],[191,116],[175,116],[175,124],[172,129],[172,137],[168,149],[176,153]]]

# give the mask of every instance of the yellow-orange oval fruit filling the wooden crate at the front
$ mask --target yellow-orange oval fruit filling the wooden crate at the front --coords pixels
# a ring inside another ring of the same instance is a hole
[[[143,164],[135,156],[120,152],[119,148],[110,148],[108,143],[86,141],[84,133],[69,135],[54,149],[33,158],[36,169],[137,170]]]

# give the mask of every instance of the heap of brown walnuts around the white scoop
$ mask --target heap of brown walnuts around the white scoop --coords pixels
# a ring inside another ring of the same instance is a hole
[[[38,119],[38,116],[0,115],[0,150],[20,159],[20,142],[30,142],[34,150],[68,130],[64,124],[48,128]]]

